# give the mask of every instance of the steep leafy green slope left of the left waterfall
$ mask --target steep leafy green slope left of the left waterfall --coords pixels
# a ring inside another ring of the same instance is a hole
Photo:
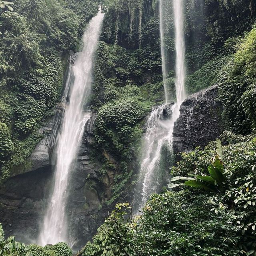
[[[2,1],[1,1],[2,2]],[[3,2],[4,3],[4,2]],[[0,6],[0,179],[30,156],[37,129],[59,99],[69,50],[76,50],[98,1],[19,0]],[[86,8],[85,8],[86,7]]]

